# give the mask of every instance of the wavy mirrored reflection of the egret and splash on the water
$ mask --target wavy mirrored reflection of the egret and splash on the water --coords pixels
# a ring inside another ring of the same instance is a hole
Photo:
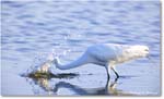
[[[117,82],[119,78],[115,78],[115,79],[108,79],[106,81],[106,84],[103,87],[97,87],[97,88],[82,88],[78,85],[68,83],[68,82],[63,82],[63,81],[59,81],[58,83],[50,83],[51,79],[47,79],[47,78],[37,78],[31,81],[31,85],[33,85],[33,90],[34,94],[36,95],[43,95],[38,87],[34,88],[37,86],[39,86],[39,88],[42,88],[45,92],[44,95],[59,95],[58,90],[61,88],[66,88],[69,91],[74,92],[75,95],[110,95],[110,96],[119,96],[119,95],[129,95],[129,94],[125,94],[122,90],[117,89]],[[68,79],[69,81],[69,79]],[[32,83],[33,82],[33,83]],[[35,84],[35,85],[34,85]]]

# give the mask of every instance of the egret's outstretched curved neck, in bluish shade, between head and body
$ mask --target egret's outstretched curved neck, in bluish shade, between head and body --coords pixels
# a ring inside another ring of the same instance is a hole
[[[89,58],[86,54],[82,55],[81,58],[79,58],[78,60],[71,62],[71,63],[68,63],[68,64],[60,64],[60,63],[57,63],[56,66],[59,69],[59,70],[69,70],[69,69],[74,69],[74,67],[78,67],[80,65],[83,65],[83,64],[86,64],[89,63]]]

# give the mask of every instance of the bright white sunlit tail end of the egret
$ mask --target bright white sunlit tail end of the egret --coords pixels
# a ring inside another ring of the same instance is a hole
[[[147,46],[131,46],[129,48],[131,54],[138,58],[144,58],[149,54],[149,47]]]

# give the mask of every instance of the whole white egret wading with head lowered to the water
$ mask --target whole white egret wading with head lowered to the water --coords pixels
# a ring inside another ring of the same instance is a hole
[[[116,64],[145,58],[148,54],[149,47],[144,45],[95,44],[89,47],[79,59],[68,64],[61,64],[58,57],[52,60],[52,63],[59,70],[70,70],[89,63],[97,64],[106,69],[107,78],[110,77],[110,71],[118,78]]]

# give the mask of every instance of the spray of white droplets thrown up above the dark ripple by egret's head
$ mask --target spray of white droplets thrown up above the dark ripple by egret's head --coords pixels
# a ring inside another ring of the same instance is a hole
[[[33,59],[32,64],[26,70],[25,74],[23,75],[27,76],[28,74],[36,74],[36,73],[57,74],[56,72],[57,69],[52,64],[52,60],[56,57],[58,58],[66,57],[68,52],[71,52],[71,50],[68,49],[68,50],[60,51],[59,48],[54,48],[51,49],[51,51],[48,51],[48,52],[36,53],[36,55]]]

